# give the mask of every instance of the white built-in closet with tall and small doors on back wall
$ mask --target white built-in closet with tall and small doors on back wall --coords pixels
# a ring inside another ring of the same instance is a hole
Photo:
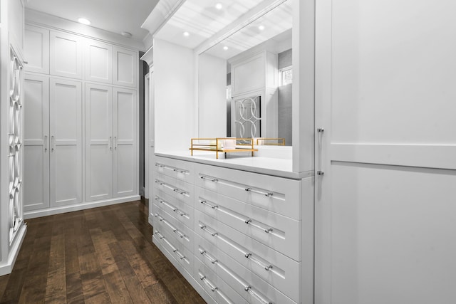
[[[26,25],[26,216],[138,199],[138,52]]]

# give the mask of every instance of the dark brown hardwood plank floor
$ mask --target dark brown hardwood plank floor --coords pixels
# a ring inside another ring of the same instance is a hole
[[[152,244],[141,201],[26,223],[0,303],[205,303]]]

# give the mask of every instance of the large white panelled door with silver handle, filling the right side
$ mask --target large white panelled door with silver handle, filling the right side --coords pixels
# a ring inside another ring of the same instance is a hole
[[[316,1],[315,303],[456,303],[455,11]]]

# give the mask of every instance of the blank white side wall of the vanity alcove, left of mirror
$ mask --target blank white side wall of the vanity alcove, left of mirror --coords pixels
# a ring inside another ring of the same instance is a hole
[[[155,152],[188,150],[197,137],[194,60],[190,48],[155,39]]]

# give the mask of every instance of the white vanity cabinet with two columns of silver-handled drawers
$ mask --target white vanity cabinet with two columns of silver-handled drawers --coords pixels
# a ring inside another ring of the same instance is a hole
[[[161,156],[154,168],[153,241],[208,303],[300,303],[300,179]]]

